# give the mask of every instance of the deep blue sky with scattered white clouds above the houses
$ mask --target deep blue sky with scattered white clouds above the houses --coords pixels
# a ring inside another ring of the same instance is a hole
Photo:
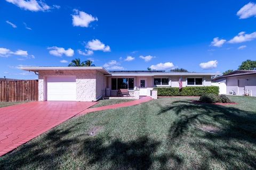
[[[253,1],[0,0],[0,77],[19,66],[223,72],[256,60]]]

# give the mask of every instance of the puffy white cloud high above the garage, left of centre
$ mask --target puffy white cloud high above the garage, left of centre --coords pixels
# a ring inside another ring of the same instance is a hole
[[[93,21],[98,21],[97,17],[93,17],[90,14],[87,14],[83,11],[74,10],[73,17],[73,26],[76,27],[89,27],[89,24]]]

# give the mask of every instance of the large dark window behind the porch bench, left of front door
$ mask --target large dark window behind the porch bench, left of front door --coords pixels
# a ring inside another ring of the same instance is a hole
[[[133,78],[111,78],[111,90],[133,89]]]

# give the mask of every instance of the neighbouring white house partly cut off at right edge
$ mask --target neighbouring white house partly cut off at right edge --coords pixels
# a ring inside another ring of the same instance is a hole
[[[236,70],[214,78],[212,82],[225,83],[227,95],[256,96],[256,71]]]

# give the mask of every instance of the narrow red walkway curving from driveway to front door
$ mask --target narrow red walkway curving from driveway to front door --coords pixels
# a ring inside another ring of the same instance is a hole
[[[94,108],[87,108],[85,111],[78,113],[78,115],[85,115],[90,112],[97,112],[97,111],[105,111],[108,109],[115,109],[115,108],[120,108],[120,107],[127,107],[127,106],[134,106],[134,105],[139,105],[141,103],[145,103],[147,101],[153,100],[153,98],[146,96],[146,97],[141,97],[138,100],[133,100],[133,101],[128,101],[124,103],[118,103],[114,105],[108,105],[108,106],[101,106],[101,107],[94,107]]]

